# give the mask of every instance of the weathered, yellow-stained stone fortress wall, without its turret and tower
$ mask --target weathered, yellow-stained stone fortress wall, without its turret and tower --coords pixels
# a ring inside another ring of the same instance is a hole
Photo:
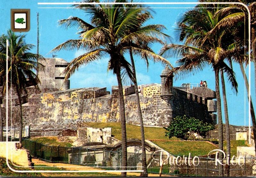
[[[126,122],[139,124],[134,87],[125,87],[124,90]],[[139,95],[144,125],[167,127],[173,117],[184,114],[205,121],[211,120],[206,98],[176,88],[172,89],[172,93],[173,97],[166,98],[161,96],[160,84],[141,86]],[[43,136],[46,130],[47,136],[60,134],[61,130],[67,128],[76,130],[78,122],[120,120],[118,97],[113,93],[110,95],[106,88],[67,89],[33,94],[26,102],[22,104],[23,125],[31,126],[33,136]],[[11,109],[12,119],[10,117],[9,121],[12,120],[12,126],[18,126],[19,106],[9,107]],[[41,133],[33,133],[35,130]]]

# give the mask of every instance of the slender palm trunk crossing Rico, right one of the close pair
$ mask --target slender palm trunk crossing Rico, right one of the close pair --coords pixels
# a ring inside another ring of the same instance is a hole
[[[223,104],[224,104],[224,114],[225,114],[225,128],[226,128],[226,141],[227,141],[227,159],[226,159],[226,165],[225,165],[225,173],[226,177],[229,177],[229,170],[230,170],[230,132],[229,132],[229,121],[228,121],[228,104],[227,104],[227,98],[226,98],[226,89],[225,89],[225,81],[224,81],[224,75],[223,70],[220,71],[220,77],[221,77],[221,86],[222,86],[222,96],[223,96]]]

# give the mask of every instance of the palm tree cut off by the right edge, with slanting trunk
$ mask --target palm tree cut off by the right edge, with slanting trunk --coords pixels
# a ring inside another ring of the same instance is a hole
[[[210,0],[207,0],[207,2],[209,2]],[[203,2],[205,2],[205,0],[203,0]],[[222,2],[222,0],[220,0],[220,2]],[[225,1],[226,2],[226,1]],[[239,3],[243,3],[245,5],[248,6],[249,10],[250,10],[250,14],[251,14],[251,44],[252,44],[252,61],[256,61],[256,40],[255,40],[255,36],[256,36],[256,2],[252,1],[252,0],[236,0],[236,1],[230,1],[230,2],[239,2]],[[237,24],[243,24],[244,26],[241,26],[243,28],[236,28],[235,29],[235,33],[236,33],[236,41],[243,43],[243,45],[245,44],[247,46],[247,49],[243,49],[244,51],[248,51],[248,30],[246,30],[245,28],[248,27],[248,13],[247,10],[244,8],[244,6],[239,5],[239,4],[234,4],[234,5],[228,5],[226,8],[220,9],[217,13],[220,13],[222,16],[224,16],[223,19],[220,20],[220,22],[211,30],[211,32],[209,33],[209,35],[211,33],[214,33],[216,30],[219,29],[226,29],[226,28],[232,28],[232,27],[237,27]],[[244,23],[245,22],[245,23]],[[245,28],[244,28],[245,27]],[[243,52],[244,52],[243,51]],[[245,52],[244,52],[245,53]],[[246,85],[246,90],[247,93],[249,94],[249,87],[247,86],[248,84],[248,80],[246,77],[246,74],[244,73],[244,67],[243,67],[243,63],[246,63],[246,61],[244,60],[244,55],[242,58],[240,58],[239,60],[236,60],[239,65],[240,65],[240,69],[241,72],[243,74],[244,77],[244,81],[245,81],[245,85]],[[254,71],[256,72],[256,65],[254,65]],[[256,76],[255,76],[255,81],[256,81]],[[255,83],[255,88],[256,88],[256,83]],[[256,92],[256,90],[255,90]],[[256,141],[256,118],[255,118],[255,113],[254,113],[254,109],[253,109],[253,105],[252,105],[252,98],[250,97],[250,107],[251,107],[251,117],[252,117],[252,128],[253,128],[253,136],[254,136],[254,141]],[[249,100],[249,97],[248,97]],[[255,153],[256,153],[256,145],[255,145]]]

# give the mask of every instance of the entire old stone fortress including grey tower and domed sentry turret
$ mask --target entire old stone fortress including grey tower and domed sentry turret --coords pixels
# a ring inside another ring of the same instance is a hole
[[[42,80],[41,93],[31,88],[29,93],[34,94],[25,96],[22,100],[23,124],[30,126],[31,136],[58,135],[61,130],[67,128],[76,130],[78,122],[119,122],[120,120],[117,87],[112,87],[111,94],[106,88],[68,89],[68,84],[63,84],[65,88],[60,90],[60,81],[63,81],[64,76],[60,73],[66,65],[68,63],[59,58],[46,59],[44,73],[42,71],[38,73]],[[203,87],[193,89],[173,87],[172,77],[169,85],[165,85],[169,71],[166,66],[160,75],[161,84],[141,85],[139,96],[144,125],[167,127],[172,118],[184,114],[216,123],[216,115],[213,114],[216,112],[216,103],[212,100],[215,98],[215,92]],[[62,79],[56,79],[57,76]],[[55,91],[56,89],[58,91]],[[46,93],[44,90],[51,92]],[[127,86],[123,90],[126,122],[140,124],[134,87]],[[3,102],[5,103],[4,99]],[[12,127],[15,127],[18,126],[19,107],[17,100],[13,100],[12,103],[14,104],[9,110],[12,109]],[[5,114],[4,109],[2,112]]]

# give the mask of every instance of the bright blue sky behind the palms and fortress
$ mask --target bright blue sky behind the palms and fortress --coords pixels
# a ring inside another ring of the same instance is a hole
[[[39,53],[44,57],[52,57],[49,52],[56,47],[58,44],[65,42],[68,39],[77,39],[76,28],[68,28],[58,26],[58,20],[67,19],[69,16],[77,16],[84,19],[86,22],[90,22],[89,17],[78,9],[70,8],[70,5],[38,5],[37,2],[60,2],[55,1],[36,1],[36,0],[8,0],[1,1],[0,12],[1,21],[0,33],[6,33],[6,30],[10,28],[10,9],[30,9],[30,31],[26,32],[26,42],[36,45],[36,13],[39,12]],[[63,0],[61,2],[72,2]],[[154,1],[144,1],[154,2]],[[158,1],[160,2],[160,1]],[[185,0],[165,0],[161,2],[196,2],[196,1],[185,1]],[[179,43],[176,36],[173,34],[175,22],[177,17],[184,13],[189,8],[194,7],[195,4],[175,4],[175,5],[150,5],[156,12],[154,19],[148,21],[150,24],[163,24],[167,30],[164,33],[173,37],[174,43]],[[158,53],[161,45],[154,45],[152,49]],[[36,47],[32,50],[36,53]],[[58,58],[63,58],[70,62],[73,58],[83,54],[85,51],[65,51],[54,53],[58,55]],[[127,58],[129,59],[129,58]],[[148,83],[160,83],[160,74],[164,66],[160,63],[154,63],[150,61],[147,69],[145,62],[138,56],[135,56],[135,65],[138,84]],[[168,59],[173,65],[177,59]],[[112,85],[116,85],[116,76],[111,71],[107,72],[108,57],[102,58],[97,62],[93,62],[87,66],[82,66],[79,70],[73,74],[70,78],[70,88],[84,88],[84,87],[107,87],[107,90],[111,90]],[[253,66],[251,75],[251,86],[252,86],[252,98],[254,107],[255,106],[255,91],[254,86],[254,70]],[[248,125],[248,102],[247,94],[245,93],[244,80],[238,65],[234,64],[234,70],[236,72],[236,79],[238,81],[238,94],[231,90],[230,85],[226,83],[226,93],[228,99],[228,112],[229,112],[229,123],[233,125]],[[247,68],[248,73],[248,68]],[[200,73],[190,75],[182,80],[174,81],[174,86],[180,86],[182,83],[199,83],[200,80],[206,80],[208,87],[215,90],[215,78],[212,68],[209,66]],[[224,120],[224,117],[223,117]]]

